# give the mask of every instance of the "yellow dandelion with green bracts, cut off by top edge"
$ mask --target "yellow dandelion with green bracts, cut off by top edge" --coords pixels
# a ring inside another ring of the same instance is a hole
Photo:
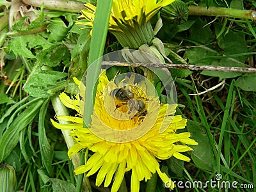
[[[138,49],[143,44],[150,45],[154,39],[154,31],[150,19],[156,15],[163,6],[175,0],[113,0],[108,30],[118,39],[123,47]],[[85,10],[79,19],[87,22],[77,22],[93,27],[96,7],[90,3],[84,4]]]

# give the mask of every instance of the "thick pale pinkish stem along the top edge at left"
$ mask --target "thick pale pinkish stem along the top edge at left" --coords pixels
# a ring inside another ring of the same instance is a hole
[[[79,1],[22,0],[22,3],[37,7],[44,4],[45,9],[72,13],[79,13],[83,9],[83,3]]]

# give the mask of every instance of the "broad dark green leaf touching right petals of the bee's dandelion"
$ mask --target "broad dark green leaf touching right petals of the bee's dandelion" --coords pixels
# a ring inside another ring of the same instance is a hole
[[[207,134],[203,134],[198,124],[191,120],[188,120],[187,129],[191,132],[191,138],[198,142],[198,146],[190,146],[193,148],[193,162],[202,170],[212,171],[213,152]]]

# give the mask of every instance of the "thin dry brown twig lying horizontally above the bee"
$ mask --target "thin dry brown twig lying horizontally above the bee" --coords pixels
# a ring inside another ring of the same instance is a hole
[[[256,74],[256,68],[244,67],[221,67],[212,65],[185,65],[185,64],[161,64],[161,63],[123,63],[118,61],[102,61],[104,66],[123,66],[123,67],[147,67],[147,68],[180,68],[189,70],[211,70],[218,72],[239,72],[243,74]]]

